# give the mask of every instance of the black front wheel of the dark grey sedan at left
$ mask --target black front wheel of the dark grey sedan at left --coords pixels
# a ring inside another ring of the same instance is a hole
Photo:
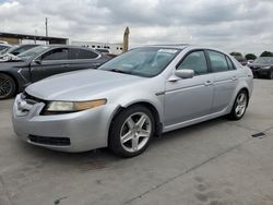
[[[14,80],[4,74],[0,73],[0,99],[7,99],[15,95],[16,85]]]

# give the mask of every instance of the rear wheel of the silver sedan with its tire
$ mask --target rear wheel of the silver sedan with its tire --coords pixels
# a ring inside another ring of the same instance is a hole
[[[247,110],[248,100],[249,97],[247,92],[241,89],[235,98],[234,106],[230,113],[228,114],[228,118],[230,120],[240,120]]]

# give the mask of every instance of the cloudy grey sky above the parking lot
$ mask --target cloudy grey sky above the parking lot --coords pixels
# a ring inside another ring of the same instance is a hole
[[[273,51],[273,0],[0,0],[0,32],[72,40]]]

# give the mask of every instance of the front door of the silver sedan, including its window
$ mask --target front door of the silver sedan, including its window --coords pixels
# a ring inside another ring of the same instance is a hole
[[[203,50],[188,53],[177,70],[194,71],[192,79],[167,81],[165,92],[165,126],[176,125],[211,113],[213,74],[209,73]]]

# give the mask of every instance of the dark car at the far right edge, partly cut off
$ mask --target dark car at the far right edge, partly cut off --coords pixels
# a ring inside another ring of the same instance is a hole
[[[249,68],[256,77],[265,76],[271,80],[273,79],[273,57],[260,57]]]

